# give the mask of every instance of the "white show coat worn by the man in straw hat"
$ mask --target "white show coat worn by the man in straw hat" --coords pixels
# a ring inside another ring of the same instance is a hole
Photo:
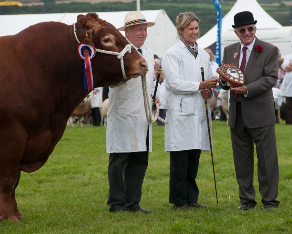
[[[134,46],[134,45],[133,45]],[[134,46],[137,50],[137,48]],[[149,100],[154,93],[153,52],[141,47],[143,58],[148,63]],[[106,126],[106,152],[126,153],[146,151],[146,135],[149,126],[149,152],[152,151],[152,124],[148,124],[144,109],[141,76],[128,80],[127,84],[109,88],[109,109]]]

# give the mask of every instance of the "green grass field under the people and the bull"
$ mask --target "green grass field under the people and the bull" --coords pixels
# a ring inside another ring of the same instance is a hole
[[[141,206],[152,213],[110,214],[106,127],[68,126],[46,164],[22,172],[16,201],[23,218],[0,222],[0,233],[292,233],[292,126],[276,125],[280,167],[278,199],[273,211],[262,211],[255,157],[255,209],[240,205],[226,122],[213,121],[213,155],[219,206],[216,204],[210,152],[202,153],[197,183],[206,210],[174,211],[168,202],[169,153],[164,127],[153,127],[153,152],[142,188]]]

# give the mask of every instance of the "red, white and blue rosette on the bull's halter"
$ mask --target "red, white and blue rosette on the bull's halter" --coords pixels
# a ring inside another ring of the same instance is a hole
[[[92,76],[92,69],[91,69],[91,62],[96,53],[96,49],[92,45],[85,44],[81,42],[77,46],[77,53],[80,59],[84,60],[83,66],[83,83],[84,83],[84,90],[93,90],[93,76]],[[84,91],[83,90],[83,91]]]

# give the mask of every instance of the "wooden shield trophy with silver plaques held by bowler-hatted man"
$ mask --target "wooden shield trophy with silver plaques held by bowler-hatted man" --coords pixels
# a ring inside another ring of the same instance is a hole
[[[217,68],[217,73],[227,80],[231,87],[235,88],[244,84],[244,75],[242,70],[234,64],[222,63],[221,67]]]

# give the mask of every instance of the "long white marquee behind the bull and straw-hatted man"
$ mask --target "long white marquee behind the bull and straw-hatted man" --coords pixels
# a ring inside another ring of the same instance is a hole
[[[148,28],[148,36],[145,45],[153,50],[159,58],[165,54],[168,48],[176,44],[176,27],[169,19],[165,10],[141,11],[148,22],[156,24]],[[124,18],[128,12],[97,12],[101,19],[112,23],[116,28],[124,26]],[[58,21],[71,25],[76,22],[79,14],[86,13],[56,13],[56,14],[27,14],[27,15],[1,15],[0,36],[13,35],[30,25]],[[123,34],[123,32],[121,31]],[[123,34],[124,35],[124,34]]]

